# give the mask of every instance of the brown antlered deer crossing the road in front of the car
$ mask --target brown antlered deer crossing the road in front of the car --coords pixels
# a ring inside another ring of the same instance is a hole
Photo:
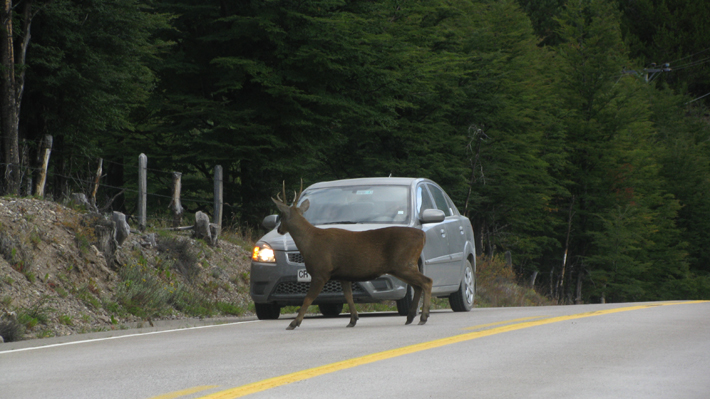
[[[414,289],[414,297],[408,309],[405,325],[411,324],[416,317],[419,299],[422,292],[424,293],[419,324],[425,324],[429,318],[433,283],[431,278],[419,271],[418,266],[426,242],[425,233],[413,227],[403,226],[366,231],[318,228],[303,216],[310,206],[310,201],[306,199],[297,205],[302,193],[303,181],[301,181],[300,192],[294,191],[291,206],[287,205],[278,194],[277,199],[271,198],[281,214],[281,223],[277,227],[278,233],[291,234],[303,256],[306,271],[311,275],[311,283],[303,305],[286,329],[293,330],[301,325],[306,310],[331,279],[340,282],[350,308],[350,323],[347,327],[355,327],[359,317],[353,301],[351,283],[372,280],[383,274],[395,276]],[[282,194],[285,199],[286,182],[283,183]]]

